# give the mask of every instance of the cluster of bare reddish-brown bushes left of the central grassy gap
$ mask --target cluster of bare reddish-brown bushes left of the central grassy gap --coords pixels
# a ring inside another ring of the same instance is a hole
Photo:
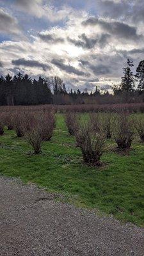
[[[33,147],[36,154],[40,153],[42,141],[52,137],[55,126],[53,112],[7,112],[0,115],[0,134],[4,133],[4,126],[8,130],[15,130],[18,137],[24,136]]]

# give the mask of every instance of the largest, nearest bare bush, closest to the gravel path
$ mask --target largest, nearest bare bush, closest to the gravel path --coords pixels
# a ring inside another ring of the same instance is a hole
[[[90,120],[81,122],[75,132],[77,145],[81,148],[85,163],[99,166],[105,142],[104,134],[92,129]]]

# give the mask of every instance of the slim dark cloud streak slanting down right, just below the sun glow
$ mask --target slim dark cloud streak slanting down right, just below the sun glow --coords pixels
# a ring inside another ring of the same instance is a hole
[[[78,70],[75,67],[72,67],[71,65],[64,64],[63,60],[53,59],[51,61],[51,63],[56,65],[56,67],[60,68],[61,70],[66,71],[69,74],[76,74],[77,76],[84,76],[85,75],[85,73],[83,71]]]

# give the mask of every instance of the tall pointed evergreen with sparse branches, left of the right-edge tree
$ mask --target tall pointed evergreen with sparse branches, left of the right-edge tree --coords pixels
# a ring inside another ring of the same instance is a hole
[[[131,67],[133,67],[133,61],[127,59],[127,67],[123,68],[124,77],[122,77],[121,90],[122,92],[132,92],[134,90],[134,75]]]

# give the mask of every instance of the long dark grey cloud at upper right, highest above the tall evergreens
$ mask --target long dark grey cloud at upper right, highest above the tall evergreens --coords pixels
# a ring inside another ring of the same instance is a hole
[[[103,19],[90,18],[82,22],[84,26],[96,26],[99,25],[100,28],[104,29],[111,35],[119,36],[129,40],[138,40],[140,35],[137,34],[136,28],[134,26],[129,26],[124,22],[119,21],[106,21]]]

